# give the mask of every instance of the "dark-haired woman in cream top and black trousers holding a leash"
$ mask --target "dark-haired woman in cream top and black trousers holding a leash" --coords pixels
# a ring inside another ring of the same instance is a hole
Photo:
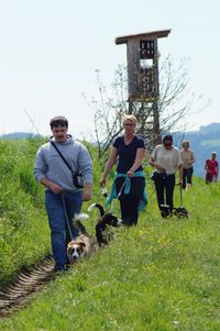
[[[151,156],[150,165],[156,168],[153,180],[161,216],[167,218],[173,214],[175,173],[179,170],[179,185],[183,183],[183,162],[180,152],[173,145],[173,136],[167,134],[163,144],[157,145]]]

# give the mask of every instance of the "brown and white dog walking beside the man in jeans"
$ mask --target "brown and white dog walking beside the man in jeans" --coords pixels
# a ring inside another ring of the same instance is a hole
[[[73,220],[74,225],[79,230],[80,234],[67,245],[67,256],[70,264],[75,264],[81,257],[88,258],[95,250],[95,242],[81,223],[85,219],[88,219],[88,214],[79,213]]]

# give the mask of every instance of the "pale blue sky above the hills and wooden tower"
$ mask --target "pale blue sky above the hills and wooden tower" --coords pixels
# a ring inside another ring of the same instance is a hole
[[[110,86],[127,47],[114,37],[170,29],[158,40],[161,60],[190,58],[191,90],[211,99],[188,117],[199,125],[220,122],[220,2],[125,0],[0,0],[0,134],[42,134],[57,114],[80,137],[92,128],[92,111],[81,93],[96,97],[96,69]]]

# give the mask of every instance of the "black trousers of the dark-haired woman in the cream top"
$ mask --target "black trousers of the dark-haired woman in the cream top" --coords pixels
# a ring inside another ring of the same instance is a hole
[[[163,210],[161,205],[168,205],[169,210],[174,208],[174,188],[175,175],[167,175],[166,177],[158,177],[155,181],[156,198],[160,210]]]

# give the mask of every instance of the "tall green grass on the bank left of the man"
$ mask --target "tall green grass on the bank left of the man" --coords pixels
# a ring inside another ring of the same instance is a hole
[[[0,141],[0,285],[51,252],[43,188],[33,178],[38,144]]]

